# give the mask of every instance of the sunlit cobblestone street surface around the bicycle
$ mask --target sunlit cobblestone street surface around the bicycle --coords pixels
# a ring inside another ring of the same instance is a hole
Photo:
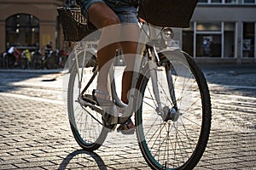
[[[195,169],[256,169],[256,66],[203,66],[212,130]],[[109,133],[99,150],[73,139],[61,71],[0,70],[0,169],[148,169],[136,134]]]

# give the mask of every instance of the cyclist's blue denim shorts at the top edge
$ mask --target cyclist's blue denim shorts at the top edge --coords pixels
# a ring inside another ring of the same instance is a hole
[[[88,9],[93,3],[106,3],[119,17],[121,23],[138,23],[137,0],[77,0],[81,6],[81,12],[88,20]]]

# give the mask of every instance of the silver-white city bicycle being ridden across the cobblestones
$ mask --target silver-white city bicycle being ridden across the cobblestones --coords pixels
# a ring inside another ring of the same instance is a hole
[[[75,42],[66,67],[67,111],[78,144],[84,150],[97,150],[116,124],[124,123],[134,112],[138,144],[151,168],[195,167],[207,147],[212,112],[207,81],[194,59],[180,48],[159,48],[158,40],[141,44],[143,53],[137,57],[129,105],[119,99],[113,65],[109,86],[114,105],[105,110],[91,95],[96,86],[97,63],[96,49],[90,45],[98,35],[92,33],[83,39],[84,32],[79,30],[92,30],[88,23],[86,28],[81,27],[79,9],[58,8],[58,12],[60,19],[63,15],[64,39]],[[70,26],[76,28],[71,31]],[[170,35],[170,29],[155,35],[164,34]],[[126,108],[123,116],[119,116],[117,107]]]

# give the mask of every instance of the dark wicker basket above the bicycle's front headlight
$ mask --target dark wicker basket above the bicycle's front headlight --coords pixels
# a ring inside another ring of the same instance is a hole
[[[189,27],[197,0],[140,0],[138,15],[154,26]]]

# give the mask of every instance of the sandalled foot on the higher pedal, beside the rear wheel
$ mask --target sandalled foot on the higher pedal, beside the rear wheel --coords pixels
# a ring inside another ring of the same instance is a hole
[[[100,106],[113,105],[113,101],[110,99],[108,92],[102,92],[100,90],[94,89],[92,91],[92,99],[94,99],[96,104]]]

